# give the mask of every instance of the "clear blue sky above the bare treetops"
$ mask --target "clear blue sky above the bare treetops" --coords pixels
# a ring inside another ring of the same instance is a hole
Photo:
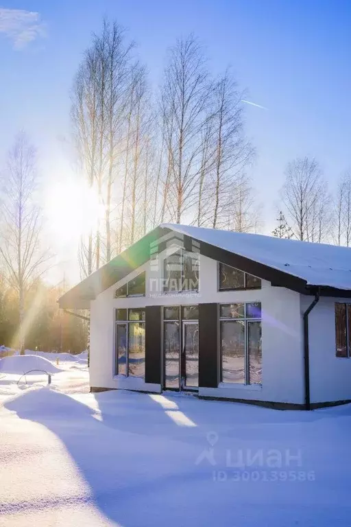
[[[167,47],[195,32],[213,72],[230,64],[246,98],[267,108],[247,106],[245,115],[258,154],[252,177],[265,232],[274,226],[289,159],[315,156],[330,189],[351,166],[348,0],[2,0],[1,8],[37,14],[16,14],[23,30],[16,36],[13,21],[0,18],[0,160],[25,128],[46,185],[70,170],[69,90],[103,16],[128,28],[153,83]]]

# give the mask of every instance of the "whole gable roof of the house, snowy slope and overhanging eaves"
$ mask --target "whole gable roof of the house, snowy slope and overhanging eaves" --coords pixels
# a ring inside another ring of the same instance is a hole
[[[274,285],[309,294],[351,296],[351,248],[300,242],[261,234],[235,233],[180,224],[161,224],[123,253],[75,285],[59,299],[60,307],[89,309],[90,300],[150,258],[150,244],[179,233],[199,242],[199,252]]]

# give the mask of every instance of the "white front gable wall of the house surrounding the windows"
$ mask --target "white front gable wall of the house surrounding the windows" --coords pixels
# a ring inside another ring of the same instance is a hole
[[[161,253],[160,260],[165,257]],[[146,296],[114,298],[115,290],[142,270],[146,271]],[[262,386],[223,385],[199,387],[199,395],[301,404],[304,402],[302,318],[300,294],[271,287],[263,281],[261,290],[219,292],[217,262],[200,255],[199,293],[162,294],[155,292],[156,279],[162,277],[162,262],[147,262],[128,277],[99,294],[90,311],[90,384],[99,388],[128,388],[160,391],[160,385],[142,379],[114,376],[114,309],[147,305],[186,305],[261,301],[263,309]],[[150,284],[153,292],[150,292]],[[219,352],[218,352],[219,353]]]

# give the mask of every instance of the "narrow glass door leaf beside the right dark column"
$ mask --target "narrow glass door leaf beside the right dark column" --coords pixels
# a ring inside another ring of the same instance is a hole
[[[182,326],[180,387],[182,390],[195,390],[199,386],[199,325],[184,320]]]

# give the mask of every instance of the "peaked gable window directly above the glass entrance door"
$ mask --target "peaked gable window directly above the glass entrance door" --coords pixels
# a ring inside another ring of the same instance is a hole
[[[199,255],[180,249],[164,260],[165,292],[199,290]]]

